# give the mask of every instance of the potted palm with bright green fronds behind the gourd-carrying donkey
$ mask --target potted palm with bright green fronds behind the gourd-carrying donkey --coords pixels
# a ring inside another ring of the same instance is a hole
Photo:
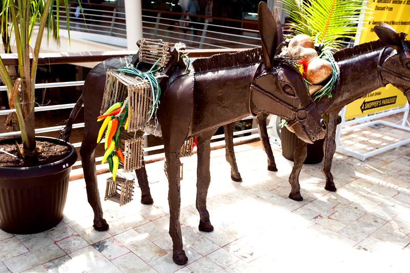
[[[289,37],[298,34],[308,35],[309,39],[313,40],[315,49],[320,51],[316,55],[319,58],[323,56],[333,58],[332,51],[341,47],[339,43],[341,38],[355,38],[354,35],[360,29],[359,23],[364,19],[361,11],[366,8],[365,1],[358,0],[283,0],[282,4],[292,22],[288,24],[291,27]],[[306,71],[306,67],[303,71]],[[305,78],[304,72],[303,77]],[[332,97],[331,91],[337,79],[336,66],[333,66],[331,75],[324,81],[321,89],[313,95],[310,92],[313,100],[318,101],[324,96]],[[308,88],[313,87],[311,82],[305,81]],[[323,120],[325,120],[325,115],[323,115]],[[282,155],[293,161],[297,137],[284,125],[281,124]],[[324,139],[308,144],[304,163],[315,164],[322,161],[323,142]]]

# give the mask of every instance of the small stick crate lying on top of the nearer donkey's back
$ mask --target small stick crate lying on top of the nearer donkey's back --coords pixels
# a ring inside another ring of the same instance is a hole
[[[154,65],[155,62],[160,59],[157,65],[165,67],[171,58],[169,48],[173,45],[174,44],[164,43],[161,39],[141,39],[138,60],[146,64]]]

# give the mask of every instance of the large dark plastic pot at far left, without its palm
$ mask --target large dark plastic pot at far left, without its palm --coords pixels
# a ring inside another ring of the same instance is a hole
[[[14,143],[5,139],[0,143]],[[0,228],[13,234],[44,232],[63,219],[71,166],[77,152],[70,143],[50,137],[36,140],[70,146],[57,162],[35,167],[0,167]]]

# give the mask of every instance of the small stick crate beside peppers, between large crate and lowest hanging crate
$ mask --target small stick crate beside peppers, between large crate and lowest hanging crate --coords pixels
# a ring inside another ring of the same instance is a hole
[[[142,137],[133,137],[133,134],[121,130],[119,149],[124,152],[124,172],[132,172],[144,166],[142,163]]]

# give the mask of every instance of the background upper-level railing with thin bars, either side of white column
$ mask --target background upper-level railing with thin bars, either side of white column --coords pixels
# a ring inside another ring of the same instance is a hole
[[[83,7],[83,14],[77,8],[78,4],[70,2],[68,16],[70,18],[70,30],[89,32],[100,35],[114,36],[126,39],[126,23],[124,7],[104,4],[87,4]],[[56,6],[54,6],[56,10]],[[257,26],[257,21],[237,20],[213,16],[192,15],[186,13],[175,13],[171,11],[142,9],[142,30],[145,38],[162,38],[185,43],[189,49],[212,49],[212,48],[252,48],[260,45],[259,32],[254,29],[243,28],[243,24]],[[171,16],[181,16],[180,19]],[[195,22],[196,31],[200,35],[182,33],[189,20],[187,15],[202,18],[203,22]],[[67,12],[60,7],[60,26],[66,26]],[[77,17],[78,16],[78,17]],[[226,21],[240,23],[242,27],[218,26],[210,23],[210,19],[218,22]],[[178,26],[175,26],[177,23]],[[169,30],[174,27],[174,30]],[[219,31],[219,29],[221,31]],[[226,31],[223,31],[223,28]],[[90,37],[90,39],[92,39]],[[109,43],[109,40],[107,40]],[[117,45],[117,44],[116,44]],[[126,43],[124,43],[126,45]]]

